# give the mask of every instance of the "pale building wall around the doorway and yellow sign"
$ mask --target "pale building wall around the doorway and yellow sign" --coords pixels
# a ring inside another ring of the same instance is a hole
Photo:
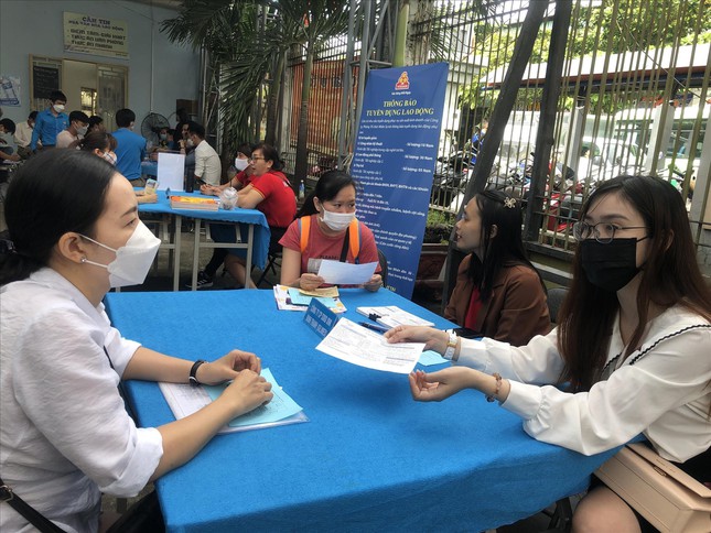
[[[125,20],[130,58],[65,53],[64,11]],[[0,74],[19,76],[21,83],[21,106],[3,107],[3,117],[18,122],[30,113],[30,54],[128,66],[128,107],[137,123],[149,111],[170,117],[176,99],[198,99],[198,55],[160,32],[160,23],[176,15],[170,9],[126,0],[1,0]],[[68,108],[78,109],[78,102]],[[174,116],[170,123],[175,124]]]

